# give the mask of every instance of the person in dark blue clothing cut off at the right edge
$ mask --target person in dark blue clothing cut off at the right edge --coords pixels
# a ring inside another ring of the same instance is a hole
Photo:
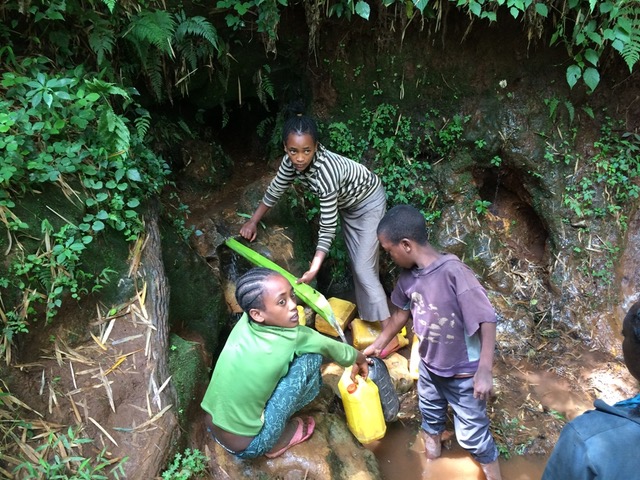
[[[622,336],[624,362],[640,380],[640,301],[624,317]],[[562,429],[542,480],[640,478],[640,394],[594,406]]]

